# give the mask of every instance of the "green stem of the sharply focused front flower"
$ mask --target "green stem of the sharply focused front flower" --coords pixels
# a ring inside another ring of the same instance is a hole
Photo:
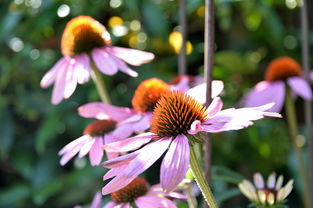
[[[214,196],[201,171],[193,145],[190,145],[190,168],[207,204],[210,208],[216,208]]]

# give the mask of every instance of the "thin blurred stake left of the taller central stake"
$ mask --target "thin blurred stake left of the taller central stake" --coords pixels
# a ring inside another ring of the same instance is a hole
[[[186,74],[186,42],[187,42],[187,26],[186,26],[186,0],[179,1],[179,25],[182,35],[182,45],[178,56],[178,73],[179,75]]]

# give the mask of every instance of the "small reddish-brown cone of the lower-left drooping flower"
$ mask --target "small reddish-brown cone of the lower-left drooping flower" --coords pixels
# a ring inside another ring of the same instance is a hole
[[[84,130],[84,134],[89,134],[90,136],[103,136],[114,130],[116,127],[116,122],[111,119],[105,120],[95,120],[91,122]]]

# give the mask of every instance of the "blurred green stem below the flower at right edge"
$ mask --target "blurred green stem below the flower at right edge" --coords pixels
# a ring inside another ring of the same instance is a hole
[[[297,116],[295,111],[295,103],[292,99],[291,90],[288,88],[286,93],[286,116],[288,122],[288,129],[290,133],[290,137],[292,140],[293,148],[296,153],[297,162],[300,171],[301,183],[304,187],[303,189],[303,200],[306,208],[309,208],[309,187],[307,183],[307,174],[305,169],[305,163],[301,148],[297,145],[297,136],[298,136],[298,125],[297,125]]]

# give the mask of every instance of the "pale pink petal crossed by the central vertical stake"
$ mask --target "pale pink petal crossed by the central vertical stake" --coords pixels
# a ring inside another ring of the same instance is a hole
[[[224,89],[224,83],[219,80],[212,81],[211,97],[218,96]],[[196,99],[199,103],[204,104],[206,100],[206,83],[195,86],[187,91],[187,94]]]

